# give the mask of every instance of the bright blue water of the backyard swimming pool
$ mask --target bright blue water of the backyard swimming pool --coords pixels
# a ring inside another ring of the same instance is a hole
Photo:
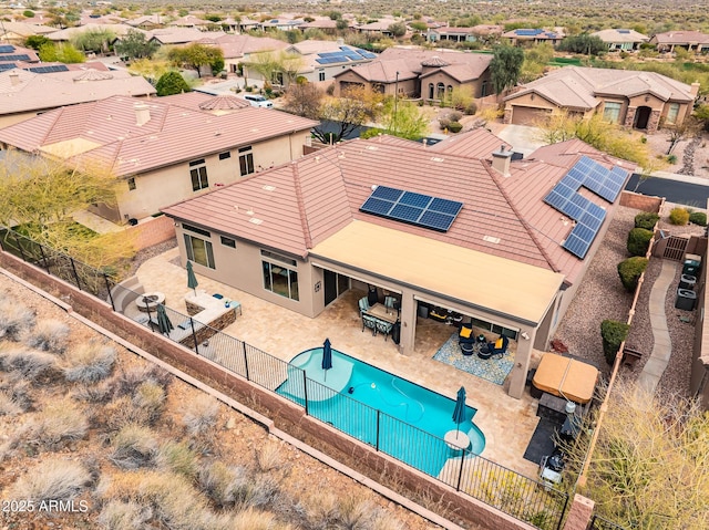
[[[443,441],[449,430],[456,429],[455,399],[336,350],[332,368],[323,371],[321,362],[321,347],[298,354],[290,362],[288,380],[277,392],[301,405],[307,394],[311,416],[428,475],[438,477],[449,458],[461,457],[460,450]],[[308,380],[305,387],[302,371]],[[475,412],[466,406],[460,426],[471,439],[470,456],[485,448],[485,437],[473,424]]]

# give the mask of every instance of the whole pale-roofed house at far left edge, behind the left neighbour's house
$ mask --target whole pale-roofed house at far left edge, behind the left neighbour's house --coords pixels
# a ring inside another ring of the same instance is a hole
[[[114,95],[140,97],[153,94],[155,89],[144,77],[123,71],[70,70],[56,63],[28,65],[27,70],[0,72],[0,127],[66,105]]]

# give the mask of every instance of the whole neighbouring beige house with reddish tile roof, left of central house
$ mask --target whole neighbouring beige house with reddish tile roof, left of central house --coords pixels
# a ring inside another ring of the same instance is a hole
[[[0,145],[114,174],[117,207],[93,211],[125,221],[298,158],[317,124],[236,96],[113,96],[2,128]]]

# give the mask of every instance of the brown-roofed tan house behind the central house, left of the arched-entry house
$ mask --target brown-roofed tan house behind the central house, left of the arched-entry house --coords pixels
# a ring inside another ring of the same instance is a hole
[[[491,93],[491,54],[444,50],[388,48],[369,64],[336,75],[335,94],[350,86],[368,86],[382,94],[440,102],[453,89],[470,87],[473,97]]]

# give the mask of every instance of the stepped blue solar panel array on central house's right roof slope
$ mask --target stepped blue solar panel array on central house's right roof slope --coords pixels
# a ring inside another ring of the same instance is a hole
[[[606,210],[578,194],[584,186],[608,202],[614,202],[625,184],[627,173],[615,166],[606,169],[597,162],[583,156],[544,198],[544,201],[561,211],[576,225],[563,248],[584,259],[604,219]]]

